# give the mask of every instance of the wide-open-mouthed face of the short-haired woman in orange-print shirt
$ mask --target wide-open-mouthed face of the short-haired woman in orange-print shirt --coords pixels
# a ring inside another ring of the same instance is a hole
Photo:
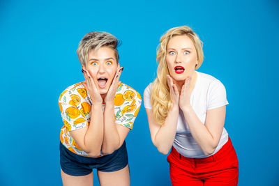
[[[118,63],[114,49],[100,47],[96,52],[91,49],[85,69],[89,71],[99,93],[106,94],[112,84]]]

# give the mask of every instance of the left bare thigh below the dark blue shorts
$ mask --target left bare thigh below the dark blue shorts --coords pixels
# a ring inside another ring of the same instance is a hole
[[[61,169],[61,177],[63,186],[93,186],[93,173],[89,173],[85,176],[70,176],[63,172]]]

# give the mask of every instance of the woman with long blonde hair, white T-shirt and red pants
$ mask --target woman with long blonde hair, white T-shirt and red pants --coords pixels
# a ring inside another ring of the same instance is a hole
[[[224,128],[225,86],[196,70],[202,41],[188,26],[169,29],[157,49],[157,78],[144,91],[153,144],[167,154],[172,185],[237,185],[239,162]]]

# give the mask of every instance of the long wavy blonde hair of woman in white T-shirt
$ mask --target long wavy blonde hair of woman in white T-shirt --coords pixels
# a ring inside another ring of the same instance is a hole
[[[167,68],[166,62],[166,51],[167,44],[173,36],[188,36],[195,45],[197,52],[197,65],[195,70],[197,70],[204,61],[204,52],[202,51],[202,41],[195,32],[190,29],[189,26],[179,26],[169,29],[161,38],[160,44],[157,47],[157,77],[153,82],[151,91],[151,104],[154,120],[163,125],[165,119],[167,118],[167,113],[172,106],[169,95],[169,86],[167,85],[167,75],[169,75],[169,70]]]

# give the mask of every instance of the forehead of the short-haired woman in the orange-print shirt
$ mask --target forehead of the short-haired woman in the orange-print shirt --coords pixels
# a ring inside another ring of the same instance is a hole
[[[88,54],[88,59],[109,59],[112,58],[116,60],[114,49],[111,47],[100,47],[99,49],[91,49]]]

